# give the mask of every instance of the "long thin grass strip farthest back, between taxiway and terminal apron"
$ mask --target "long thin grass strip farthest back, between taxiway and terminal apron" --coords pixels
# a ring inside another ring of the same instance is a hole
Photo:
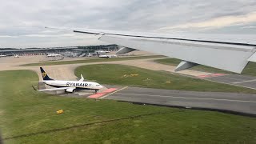
[[[125,60],[134,60],[134,59],[146,59],[146,58],[163,58],[162,55],[151,55],[151,56],[136,56],[136,57],[126,57],[126,58],[88,58],[83,60],[75,61],[58,61],[58,62],[39,62],[39,63],[30,63],[21,66],[50,66],[50,65],[66,65],[66,64],[75,64],[75,63],[89,63],[89,62],[113,62],[113,61],[125,61]]]

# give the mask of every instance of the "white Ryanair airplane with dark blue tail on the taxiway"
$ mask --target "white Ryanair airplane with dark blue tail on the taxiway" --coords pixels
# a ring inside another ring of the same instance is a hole
[[[74,90],[83,89],[83,90],[95,90],[95,93],[97,93],[97,91],[102,89],[103,87],[97,82],[83,82],[84,78],[82,77],[82,74],[81,74],[81,79],[79,81],[59,81],[59,80],[54,80],[50,78],[46,74],[46,71],[42,69],[42,67],[40,67],[40,70],[42,73],[42,79],[43,79],[42,82],[48,86],[53,86],[55,88],[38,90],[38,91],[65,90],[66,92],[73,93]],[[34,90],[36,89],[34,88]]]

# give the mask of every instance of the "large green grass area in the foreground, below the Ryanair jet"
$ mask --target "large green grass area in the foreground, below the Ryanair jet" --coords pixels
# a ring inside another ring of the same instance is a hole
[[[88,74],[89,75],[89,74]],[[254,143],[256,118],[201,110],[65,98],[34,91],[30,70],[0,72],[4,143]],[[63,109],[64,114],[56,114]],[[119,121],[91,124],[114,118]],[[73,127],[72,127],[73,126]],[[14,138],[18,135],[19,138]]]

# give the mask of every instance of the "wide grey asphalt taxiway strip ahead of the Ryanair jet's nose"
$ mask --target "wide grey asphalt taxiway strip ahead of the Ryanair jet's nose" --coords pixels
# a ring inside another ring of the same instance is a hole
[[[256,94],[194,92],[127,87],[103,99],[256,115]]]

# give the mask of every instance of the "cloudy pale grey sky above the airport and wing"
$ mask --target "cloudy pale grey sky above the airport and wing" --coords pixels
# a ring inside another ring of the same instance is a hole
[[[69,30],[91,28],[206,34],[256,34],[255,0],[0,0],[0,48],[107,44]]]

